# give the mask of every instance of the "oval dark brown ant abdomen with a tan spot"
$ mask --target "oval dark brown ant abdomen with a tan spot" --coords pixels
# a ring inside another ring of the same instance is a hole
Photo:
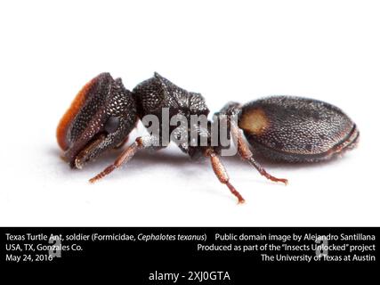
[[[239,113],[239,127],[255,153],[289,162],[330,159],[359,138],[356,125],[342,110],[302,97],[249,102]]]

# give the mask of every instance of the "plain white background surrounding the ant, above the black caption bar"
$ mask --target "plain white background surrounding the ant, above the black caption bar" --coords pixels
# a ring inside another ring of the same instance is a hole
[[[2,1],[0,225],[380,225],[379,15],[378,1]],[[117,152],[71,170],[55,128],[102,71],[129,89],[158,71],[212,112],[270,94],[331,102],[360,146],[323,164],[264,164],[288,186],[225,159],[243,206],[175,146],[91,185]]]

